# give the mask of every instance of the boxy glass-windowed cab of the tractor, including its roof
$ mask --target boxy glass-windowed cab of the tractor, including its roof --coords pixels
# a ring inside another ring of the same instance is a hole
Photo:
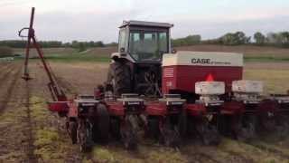
[[[161,62],[163,53],[170,53],[172,24],[124,21],[119,27],[118,53],[112,57],[130,62]]]

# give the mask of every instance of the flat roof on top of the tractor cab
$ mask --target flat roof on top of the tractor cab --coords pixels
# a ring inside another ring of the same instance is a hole
[[[151,26],[151,27],[163,27],[163,28],[171,28],[173,24],[168,23],[157,23],[157,22],[145,22],[145,21],[124,21],[123,24],[119,26],[119,28],[125,26]]]

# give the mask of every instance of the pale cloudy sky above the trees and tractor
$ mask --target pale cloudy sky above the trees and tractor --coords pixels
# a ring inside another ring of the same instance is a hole
[[[32,6],[39,40],[116,42],[123,20],[174,24],[173,38],[289,31],[288,0],[0,0],[0,40],[18,39]]]

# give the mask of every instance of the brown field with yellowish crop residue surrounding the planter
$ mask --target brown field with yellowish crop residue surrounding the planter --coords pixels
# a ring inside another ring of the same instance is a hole
[[[107,63],[53,62],[51,67],[70,96],[91,94],[106,79]],[[22,63],[1,63],[0,162],[289,162],[289,139],[256,139],[250,143],[223,138],[218,147],[186,140],[181,149],[164,148],[144,139],[137,152],[119,142],[96,145],[80,154],[71,145],[63,121],[46,109],[47,78],[39,62],[32,62],[32,81],[20,79]],[[266,92],[289,89],[289,66],[284,63],[247,63],[246,79],[265,80]]]

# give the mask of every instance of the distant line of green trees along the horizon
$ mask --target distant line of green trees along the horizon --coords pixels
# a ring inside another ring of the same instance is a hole
[[[102,41],[62,43],[60,41],[40,41],[43,48],[60,48],[71,47],[84,51],[91,47],[108,47],[117,46],[117,43],[103,43]],[[191,34],[183,38],[172,39],[172,46],[186,46],[193,44],[222,44],[222,45],[240,45],[240,44],[256,44],[271,45],[289,48],[289,32],[262,34],[256,32],[253,37],[247,36],[244,32],[228,33],[216,39],[202,40],[200,34]],[[12,48],[25,48],[25,40],[8,40],[0,41],[0,46],[8,46]]]

